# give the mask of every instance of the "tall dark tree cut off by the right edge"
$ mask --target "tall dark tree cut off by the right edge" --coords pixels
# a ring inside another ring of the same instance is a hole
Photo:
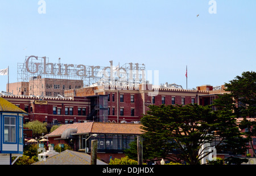
[[[243,135],[249,140],[253,154],[256,156],[253,148],[252,137],[256,136],[256,73],[254,71],[242,72],[241,76],[225,83],[224,95],[219,95],[214,101],[214,106],[219,111],[232,111],[232,115],[242,119],[239,127],[246,130]]]

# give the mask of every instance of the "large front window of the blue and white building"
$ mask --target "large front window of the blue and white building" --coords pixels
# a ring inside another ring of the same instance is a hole
[[[16,117],[5,117],[5,142],[16,142]]]

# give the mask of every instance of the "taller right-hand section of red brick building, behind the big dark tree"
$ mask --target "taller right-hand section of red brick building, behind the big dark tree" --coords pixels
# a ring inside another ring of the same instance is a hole
[[[198,103],[211,104],[213,96],[206,90],[187,90],[178,88],[152,89],[150,84],[140,84],[139,87],[110,87],[96,86],[72,89],[65,91],[64,95],[88,97],[96,95],[108,96],[108,122],[138,122],[146,114],[148,105],[187,105]],[[211,93],[222,93],[222,90]],[[201,87],[199,87],[201,88]],[[154,93],[154,95],[150,95]],[[209,97],[204,97],[209,96]],[[216,96],[215,96],[216,97]],[[209,102],[208,102],[209,101]],[[207,102],[207,103],[206,103]],[[93,108],[92,108],[93,109]],[[89,119],[92,119],[89,117]],[[93,120],[93,119],[92,119]]]

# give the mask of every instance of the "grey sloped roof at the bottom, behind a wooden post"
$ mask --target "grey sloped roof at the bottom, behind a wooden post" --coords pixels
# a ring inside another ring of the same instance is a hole
[[[46,158],[46,161],[38,161],[33,165],[90,165],[90,155],[82,152],[65,150],[54,156]],[[97,159],[97,165],[107,165]]]

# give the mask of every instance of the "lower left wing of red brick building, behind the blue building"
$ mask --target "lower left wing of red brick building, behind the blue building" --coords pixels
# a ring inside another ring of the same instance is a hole
[[[1,96],[26,111],[24,123],[38,120],[49,125],[84,122],[90,111],[90,99],[86,97],[53,98],[31,96]]]

